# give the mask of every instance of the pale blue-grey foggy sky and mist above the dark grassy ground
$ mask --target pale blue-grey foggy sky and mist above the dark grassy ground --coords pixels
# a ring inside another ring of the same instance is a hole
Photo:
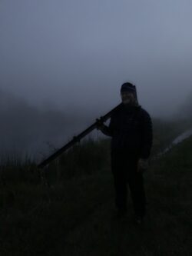
[[[151,116],[188,111],[191,8],[190,0],[2,0],[1,147],[41,155],[46,141],[60,146],[120,103],[124,81]]]

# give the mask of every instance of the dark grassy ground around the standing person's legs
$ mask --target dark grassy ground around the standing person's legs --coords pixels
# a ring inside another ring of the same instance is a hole
[[[78,165],[89,171],[70,178],[60,173],[51,185],[44,182],[51,181],[51,171],[44,178],[31,164],[1,171],[0,255],[192,254],[192,138],[153,161],[144,174],[147,216],[143,227],[132,224],[130,197],[127,216],[114,221],[108,160],[101,158],[102,165],[95,171],[101,147],[94,154],[90,152],[93,145],[86,147],[87,167],[84,161]]]

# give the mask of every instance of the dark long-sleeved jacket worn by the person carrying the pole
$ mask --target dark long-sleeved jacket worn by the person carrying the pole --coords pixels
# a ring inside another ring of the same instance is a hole
[[[111,136],[111,152],[127,151],[138,158],[149,158],[153,141],[152,122],[141,106],[121,105],[102,132]]]

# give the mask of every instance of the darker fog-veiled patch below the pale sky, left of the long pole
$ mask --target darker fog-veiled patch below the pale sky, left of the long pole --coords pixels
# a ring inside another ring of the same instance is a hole
[[[5,91],[0,91],[0,119],[2,160],[7,155],[44,158],[77,135],[88,122],[84,116],[68,114],[53,106],[37,108]]]

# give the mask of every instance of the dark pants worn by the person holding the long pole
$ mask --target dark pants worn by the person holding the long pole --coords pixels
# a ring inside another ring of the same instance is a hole
[[[127,209],[127,184],[131,192],[134,213],[143,217],[146,211],[144,178],[137,172],[138,157],[123,152],[111,152],[111,171],[114,176],[115,204],[118,210]]]

